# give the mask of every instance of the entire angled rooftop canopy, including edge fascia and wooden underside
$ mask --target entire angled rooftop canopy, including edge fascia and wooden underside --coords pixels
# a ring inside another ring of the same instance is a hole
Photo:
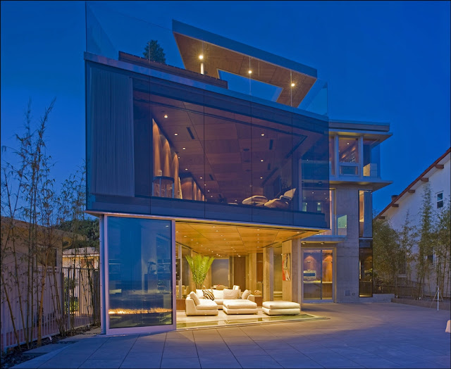
[[[185,69],[199,73],[199,56],[202,54],[206,75],[220,78],[219,71],[223,70],[280,87],[282,92],[277,99],[280,104],[299,106],[316,82],[316,70],[313,68],[225,37],[176,21],[173,22],[173,34]],[[249,74],[249,70],[252,70],[252,74]]]

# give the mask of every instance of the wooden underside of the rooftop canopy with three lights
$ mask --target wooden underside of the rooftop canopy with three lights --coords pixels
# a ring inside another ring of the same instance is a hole
[[[315,77],[261,61],[209,42],[193,39],[178,33],[174,33],[174,37],[185,69],[199,73],[199,55],[202,54],[204,56],[202,61],[205,74],[212,77],[220,78],[219,70],[224,70],[248,78],[248,72],[252,70],[250,76],[253,80],[282,88],[282,92],[280,92],[277,99],[277,102],[280,104],[299,106],[316,81]],[[294,83],[295,87],[292,87],[291,83]]]

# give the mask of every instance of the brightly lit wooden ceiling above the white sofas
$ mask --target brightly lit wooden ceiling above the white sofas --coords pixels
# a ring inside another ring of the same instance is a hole
[[[175,222],[175,241],[199,254],[244,256],[287,239],[309,237],[316,232],[245,225]]]

